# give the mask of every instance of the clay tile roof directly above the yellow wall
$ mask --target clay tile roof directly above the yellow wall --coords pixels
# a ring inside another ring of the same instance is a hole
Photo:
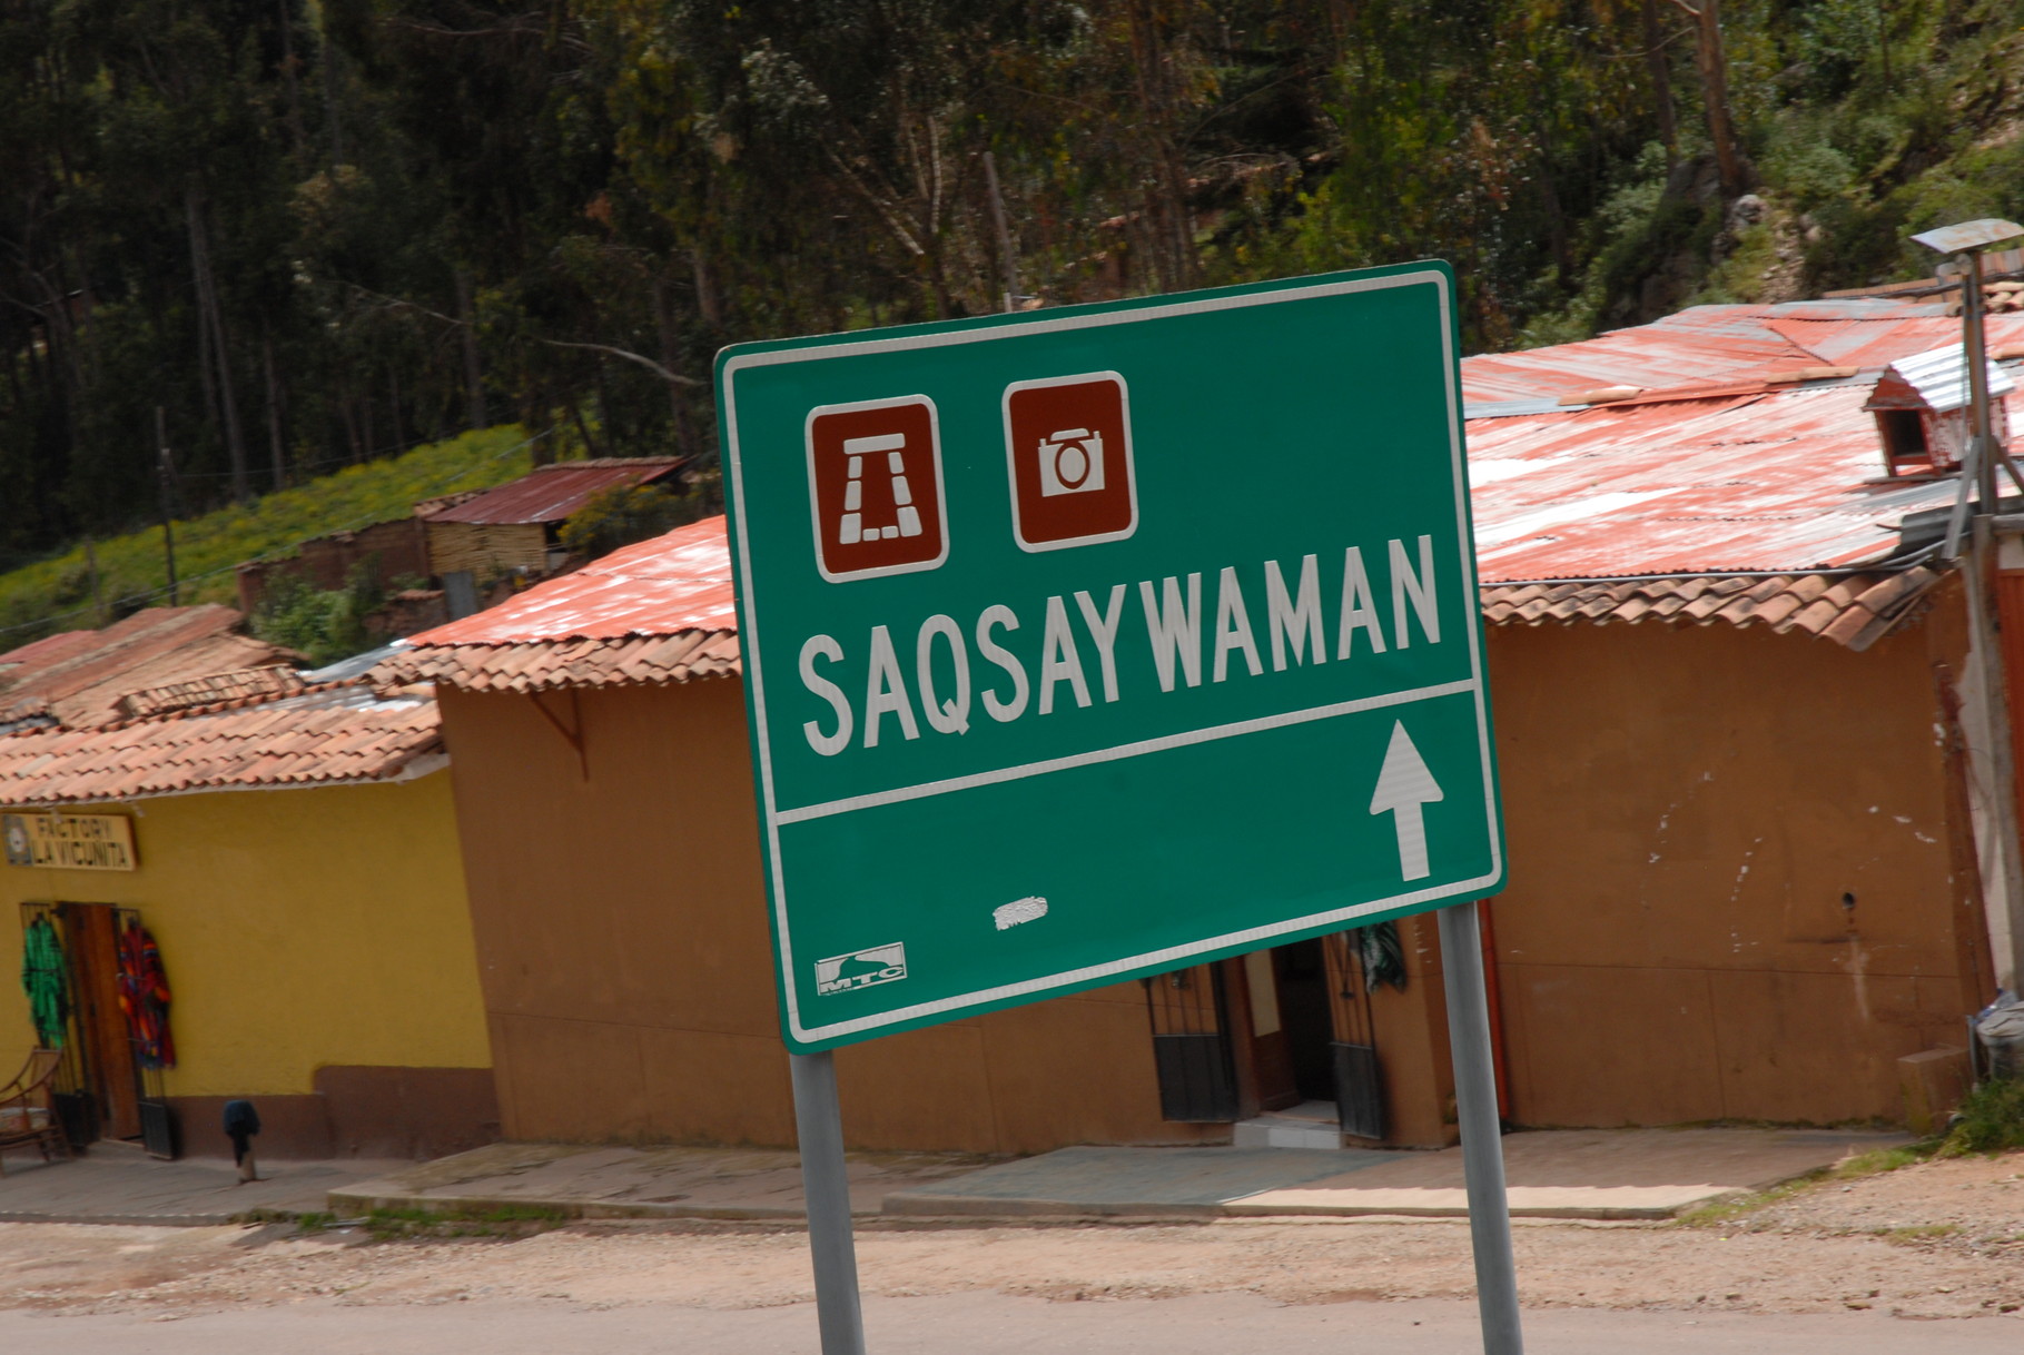
[[[0,738],[0,805],[405,781],[441,766],[441,752],[433,698],[389,700],[362,684],[330,684]]]

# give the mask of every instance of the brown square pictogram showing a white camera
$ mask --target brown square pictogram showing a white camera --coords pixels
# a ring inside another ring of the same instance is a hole
[[[1137,491],[1125,378],[1085,372],[1006,386],[1006,469],[1022,550],[1131,536]]]

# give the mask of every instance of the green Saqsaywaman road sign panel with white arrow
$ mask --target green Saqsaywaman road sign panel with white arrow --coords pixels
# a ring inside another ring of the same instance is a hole
[[[1502,888],[1453,313],[1417,263],[721,354],[789,1048]]]

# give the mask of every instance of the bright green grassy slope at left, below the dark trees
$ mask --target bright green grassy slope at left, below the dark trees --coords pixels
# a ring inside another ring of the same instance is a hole
[[[285,556],[312,536],[403,518],[419,500],[439,493],[506,483],[530,469],[530,451],[528,439],[514,427],[466,433],[391,461],[346,467],[243,508],[178,522],[178,599],[184,605],[235,603],[235,564]],[[107,613],[125,615],[168,601],[162,528],[95,542],[93,552]],[[99,621],[83,546],[0,574],[0,649]]]

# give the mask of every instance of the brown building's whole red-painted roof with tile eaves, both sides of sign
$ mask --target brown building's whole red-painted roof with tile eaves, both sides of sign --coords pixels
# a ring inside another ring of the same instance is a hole
[[[1876,425],[1862,411],[1884,364],[1957,342],[1959,322],[1941,311],[1888,299],[1700,305],[1581,344],[1465,358],[1492,619],[1722,619],[1866,645],[1935,578],[1921,572],[1907,593],[1884,586],[1888,570],[1846,586],[1822,570],[1882,562],[1907,514],[1953,502],[1953,479],[1878,483]],[[1992,348],[2008,342],[2024,342],[2024,315],[1990,318]],[[1864,370],[1791,384],[1820,366]],[[1641,394],[1558,402],[1603,386]],[[1716,595],[1684,578],[1694,574],[1779,578]],[[1524,586],[1625,576],[1674,580]],[[708,518],[415,635],[391,671],[510,690],[684,682],[737,671],[735,629],[725,520]]]

